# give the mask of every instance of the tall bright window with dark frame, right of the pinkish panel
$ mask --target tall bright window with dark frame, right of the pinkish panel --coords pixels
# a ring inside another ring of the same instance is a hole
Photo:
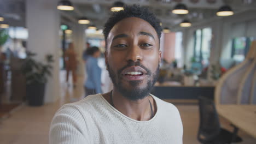
[[[197,29],[194,35],[194,58],[196,62],[201,62],[202,65],[207,66],[210,58],[212,39],[212,29],[203,28]]]

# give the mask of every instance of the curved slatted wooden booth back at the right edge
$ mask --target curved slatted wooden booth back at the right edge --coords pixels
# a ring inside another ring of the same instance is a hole
[[[228,70],[218,81],[218,85],[215,88],[214,98],[216,104],[248,104],[248,101],[253,101],[249,95],[254,95],[254,89],[250,92],[252,85],[250,80],[252,79],[252,73],[250,69],[253,69],[253,61],[256,58],[256,40],[252,41],[252,45],[247,53],[245,60]],[[249,70],[249,71],[248,71]],[[248,73],[247,73],[248,72]],[[254,73],[254,71],[251,71]],[[246,76],[245,76],[246,75]],[[247,77],[249,76],[249,79]],[[242,82],[241,82],[242,81]],[[248,85],[243,86],[241,85]],[[255,85],[254,85],[255,86]],[[251,94],[249,94],[251,93]],[[241,97],[241,95],[245,97]],[[250,99],[250,100],[249,100]]]

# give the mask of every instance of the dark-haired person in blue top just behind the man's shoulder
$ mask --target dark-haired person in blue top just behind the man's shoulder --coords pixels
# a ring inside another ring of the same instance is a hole
[[[98,66],[98,57],[101,52],[98,47],[93,46],[88,50],[88,59],[86,62],[87,80],[84,84],[85,97],[90,94],[102,93],[101,91],[101,68]]]

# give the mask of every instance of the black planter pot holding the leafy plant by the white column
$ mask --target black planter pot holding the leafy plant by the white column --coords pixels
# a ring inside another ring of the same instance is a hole
[[[27,85],[27,100],[28,105],[41,106],[44,104],[44,89],[45,83],[31,83]]]

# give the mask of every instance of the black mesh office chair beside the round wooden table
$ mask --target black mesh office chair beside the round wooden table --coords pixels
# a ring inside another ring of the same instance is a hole
[[[199,97],[200,126],[197,139],[201,143],[233,143],[241,142],[237,136],[237,128],[233,133],[220,127],[218,113],[214,102],[210,99]]]

